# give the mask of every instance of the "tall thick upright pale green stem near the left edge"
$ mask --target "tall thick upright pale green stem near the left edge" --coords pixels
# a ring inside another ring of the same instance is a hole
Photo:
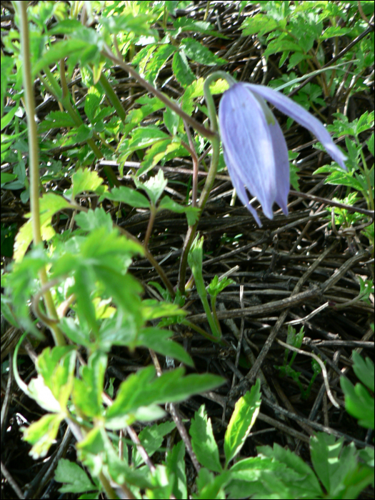
[[[21,54],[23,62],[22,76],[24,79],[25,103],[27,114],[27,129],[29,136],[29,172],[30,172],[30,211],[31,224],[33,231],[34,245],[42,244],[40,212],[39,212],[39,146],[38,136],[36,131],[35,116],[35,101],[34,101],[34,86],[31,81],[31,64],[30,64],[30,45],[29,45],[29,24],[27,21],[27,4],[24,1],[17,1],[20,14],[20,33],[21,33]],[[46,269],[42,268],[39,271],[39,278],[42,286],[48,281]],[[58,319],[54,300],[51,296],[51,291],[46,291],[44,301],[49,316]],[[57,325],[51,325],[51,333],[54,336],[56,346],[66,344],[64,335]]]

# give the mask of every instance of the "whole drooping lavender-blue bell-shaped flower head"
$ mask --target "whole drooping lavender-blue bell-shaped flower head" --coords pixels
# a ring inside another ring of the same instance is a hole
[[[261,221],[249,203],[246,188],[256,196],[264,215],[274,217],[274,201],[288,214],[289,159],[286,141],[266,101],[311,131],[326,151],[346,169],[346,156],[332,141],[323,124],[289,97],[263,85],[233,84],[219,104],[224,159],[239,199]]]

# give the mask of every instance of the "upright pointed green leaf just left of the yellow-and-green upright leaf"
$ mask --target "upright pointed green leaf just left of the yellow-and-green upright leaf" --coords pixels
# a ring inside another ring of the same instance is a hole
[[[204,405],[194,414],[189,430],[191,446],[199,463],[214,472],[221,472],[219,448],[217,447],[212,431],[211,419],[207,417]]]

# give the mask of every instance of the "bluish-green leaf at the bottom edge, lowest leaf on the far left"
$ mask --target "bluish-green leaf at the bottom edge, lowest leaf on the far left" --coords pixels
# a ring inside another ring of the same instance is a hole
[[[57,464],[55,481],[64,483],[59,488],[60,493],[84,493],[84,491],[96,491],[96,486],[91,483],[84,469],[70,460],[60,459]]]

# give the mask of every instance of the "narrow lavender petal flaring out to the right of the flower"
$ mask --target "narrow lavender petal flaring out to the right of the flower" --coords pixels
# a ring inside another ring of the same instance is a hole
[[[345,156],[336,144],[334,144],[329,132],[326,130],[324,125],[321,124],[321,121],[316,119],[315,116],[309,113],[309,111],[306,111],[306,109],[294,102],[292,99],[289,99],[289,97],[281,94],[281,92],[270,89],[264,85],[243,85],[250,91],[254,92],[254,94],[258,94],[266,99],[266,101],[269,101],[277,109],[279,109],[279,111],[291,116],[291,118],[293,118],[297,123],[304,126],[305,129],[311,131],[311,133],[314,134],[319,141],[321,141],[321,144],[323,144],[326,151],[330,154],[334,161],[336,161],[342,169],[346,170],[344,161],[347,159],[347,156]]]

